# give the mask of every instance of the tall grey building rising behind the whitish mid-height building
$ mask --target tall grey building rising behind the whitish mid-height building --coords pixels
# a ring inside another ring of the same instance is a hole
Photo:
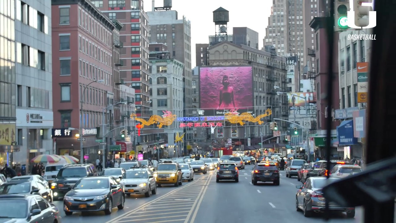
[[[164,43],[171,52],[171,58],[184,64],[183,70],[183,116],[192,115],[192,71],[191,71],[191,22],[177,12],[170,10],[171,6],[154,8],[147,12],[150,19],[150,42]],[[185,142],[193,138],[192,128],[185,128]],[[184,145],[187,152],[187,144]]]

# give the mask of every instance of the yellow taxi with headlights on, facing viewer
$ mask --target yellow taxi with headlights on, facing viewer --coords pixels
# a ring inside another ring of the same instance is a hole
[[[172,160],[166,160],[158,164],[154,177],[157,182],[157,186],[161,185],[175,185],[181,186],[182,184],[182,173],[179,164]]]

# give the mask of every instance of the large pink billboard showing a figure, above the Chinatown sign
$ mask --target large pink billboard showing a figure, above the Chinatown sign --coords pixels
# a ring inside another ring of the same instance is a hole
[[[199,73],[200,108],[207,110],[205,115],[222,115],[236,109],[239,113],[249,108],[253,110],[251,66],[200,67]]]

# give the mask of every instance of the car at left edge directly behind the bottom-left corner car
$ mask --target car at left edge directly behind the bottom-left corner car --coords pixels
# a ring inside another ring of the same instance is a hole
[[[52,191],[37,181],[10,181],[0,185],[0,194],[37,194],[52,202]]]

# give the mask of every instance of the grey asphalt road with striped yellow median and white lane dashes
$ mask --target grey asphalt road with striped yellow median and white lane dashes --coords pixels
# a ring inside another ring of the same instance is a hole
[[[286,178],[281,172],[280,186],[271,183],[251,184],[251,168],[240,170],[239,183],[216,183],[215,171],[194,175],[194,181],[183,181],[179,187],[162,186],[157,194],[126,197],[124,210],[74,213],[65,216],[63,202],[57,201],[63,223],[245,223],[263,220],[282,222],[325,222],[321,215],[306,218],[295,210],[295,177]],[[356,209],[354,219],[345,214],[332,215],[330,222],[363,222],[362,209]],[[395,221],[396,222],[396,221]]]

